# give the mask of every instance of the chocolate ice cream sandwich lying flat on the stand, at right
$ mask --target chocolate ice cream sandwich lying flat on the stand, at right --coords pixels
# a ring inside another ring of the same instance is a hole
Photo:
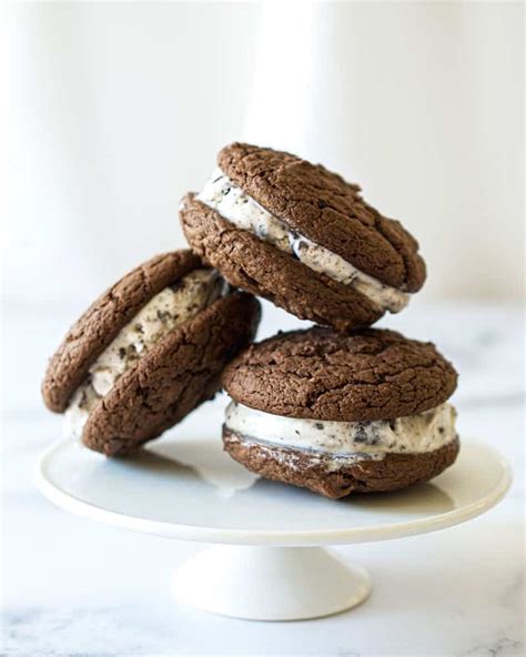
[[[250,346],[223,372],[226,452],[327,497],[428,481],[459,449],[457,375],[432,343],[314,327]]]

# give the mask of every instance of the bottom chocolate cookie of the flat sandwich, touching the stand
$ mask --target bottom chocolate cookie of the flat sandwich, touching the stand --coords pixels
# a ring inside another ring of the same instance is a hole
[[[455,438],[422,454],[386,454],[382,459],[337,462],[324,454],[256,443],[224,426],[223,445],[232,458],[253,473],[333,499],[351,493],[399,491],[428,482],[453,465],[461,447]]]

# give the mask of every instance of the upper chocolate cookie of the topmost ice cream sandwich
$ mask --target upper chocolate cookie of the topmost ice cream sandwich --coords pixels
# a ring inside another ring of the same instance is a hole
[[[232,182],[291,229],[382,283],[418,291],[425,264],[398,221],[368,205],[360,186],[290,153],[233,143],[218,163]]]

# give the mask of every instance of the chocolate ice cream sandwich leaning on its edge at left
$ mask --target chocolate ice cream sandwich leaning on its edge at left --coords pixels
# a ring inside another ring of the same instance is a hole
[[[260,304],[190,251],[158,255],[104,292],[67,334],[42,384],[65,431],[125,454],[180,422],[253,340]]]

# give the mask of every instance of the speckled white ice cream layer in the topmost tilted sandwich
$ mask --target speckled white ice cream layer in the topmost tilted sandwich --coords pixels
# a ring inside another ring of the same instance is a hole
[[[242,189],[236,188],[221,169],[213,172],[196,199],[239,229],[250,231],[260,240],[290,253],[311,270],[350,285],[382,311],[397,313],[408,303],[409,295],[406,292],[384,285],[342,256],[290,229]]]

